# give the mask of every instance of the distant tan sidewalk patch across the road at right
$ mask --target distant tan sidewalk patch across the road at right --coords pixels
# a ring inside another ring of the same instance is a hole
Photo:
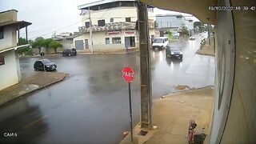
[[[197,51],[197,54],[215,56],[214,52],[214,37],[210,37],[210,46],[209,38],[206,39],[206,45]]]

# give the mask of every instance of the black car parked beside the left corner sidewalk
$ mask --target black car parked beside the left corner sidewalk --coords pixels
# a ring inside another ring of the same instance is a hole
[[[39,59],[34,62],[34,70],[36,71],[51,71],[56,70],[57,65],[49,59]]]

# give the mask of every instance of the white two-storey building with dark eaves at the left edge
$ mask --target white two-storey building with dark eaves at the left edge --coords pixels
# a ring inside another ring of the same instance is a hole
[[[18,46],[17,39],[19,30],[31,23],[17,21],[17,13],[17,10],[0,12],[0,90],[21,79],[17,49],[22,46]]]

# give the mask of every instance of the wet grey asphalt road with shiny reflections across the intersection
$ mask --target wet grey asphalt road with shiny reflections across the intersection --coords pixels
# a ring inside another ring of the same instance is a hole
[[[200,82],[195,82],[197,78],[181,78],[191,69],[193,59],[214,65],[214,58],[195,58],[199,44],[198,36],[195,41],[172,43],[171,46],[182,49],[182,61],[166,59],[165,50],[151,52],[154,99],[174,92],[174,86],[182,81],[194,87],[214,84],[214,66],[204,70]],[[123,131],[130,127],[127,83],[122,80],[121,73],[123,66],[132,66],[135,70],[135,80],[131,84],[134,125],[139,122],[138,53],[47,58],[58,65],[58,71],[70,74],[69,77],[1,106],[0,142],[118,143]],[[20,59],[23,78],[35,73],[35,59]],[[5,132],[17,133],[18,136],[5,138]]]

